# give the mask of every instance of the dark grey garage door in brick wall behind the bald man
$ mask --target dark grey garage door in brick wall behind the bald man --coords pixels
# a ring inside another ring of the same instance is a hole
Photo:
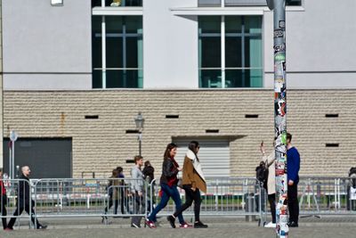
[[[15,142],[15,177],[17,165],[28,165],[31,178],[71,177],[71,153],[71,138],[19,138]],[[4,138],[4,172],[9,174],[9,138]]]

